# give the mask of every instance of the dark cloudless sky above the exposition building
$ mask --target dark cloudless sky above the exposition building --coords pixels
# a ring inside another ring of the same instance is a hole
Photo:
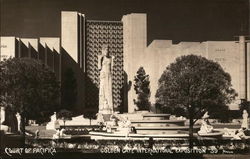
[[[121,20],[147,13],[148,43],[232,40],[248,34],[248,0],[0,0],[1,35],[60,36],[60,12],[79,11],[87,19]]]

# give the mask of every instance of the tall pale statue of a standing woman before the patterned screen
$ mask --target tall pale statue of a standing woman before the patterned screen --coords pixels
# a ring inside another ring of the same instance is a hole
[[[112,67],[113,56],[109,55],[108,45],[103,45],[101,55],[98,55],[98,69],[100,71],[99,113],[113,113],[112,96]]]

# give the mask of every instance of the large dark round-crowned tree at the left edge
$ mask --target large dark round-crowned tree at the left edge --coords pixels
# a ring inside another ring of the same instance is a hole
[[[60,108],[60,85],[55,73],[35,59],[1,61],[0,91],[0,103],[20,114],[24,136],[26,120],[48,121]]]

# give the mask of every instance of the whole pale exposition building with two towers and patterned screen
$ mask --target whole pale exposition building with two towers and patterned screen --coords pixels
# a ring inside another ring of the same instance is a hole
[[[239,94],[231,109],[238,109],[241,99],[250,100],[250,43],[244,36],[238,41],[180,42],[154,40],[147,46],[147,15],[132,13],[121,21],[89,20],[84,14],[61,12],[61,37],[1,37],[0,60],[29,57],[41,60],[53,69],[58,80],[65,80],[68,69],[77,81],[76,112],[98,109],[98,54],[107,44],[114,59],[113,105],[115,111],[133,113],[134,76],[140,66],[150,76],[150,101],[155,104],[158,79],[166,66],[181,55],[201,55],[217,61],[232,77]],[[60,29],[60,28],[58,28]],[[154,108],[152,108],[154,109]]]

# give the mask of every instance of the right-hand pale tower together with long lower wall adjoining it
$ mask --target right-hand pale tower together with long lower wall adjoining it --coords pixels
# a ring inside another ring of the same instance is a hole
[[[239,93],[237,100],[230,105],[237,109],[240,99],[250,99],[250,57],[249,44],[240,37],[236,41],[207,41],[207,42],[180,42],[172,44],[171,40],[154,40],[146,46],[146,15],[128,14],[123,16],[124,36],[124,70],[127,73],[128,111],[133,112],[133,99],[137,95],[134,91],[134,76],[140,66],[143,66],[150,76],[152,104],[155,103],[155,94],[158,89],[158,80],[166,67],[182,55],[201,55],[218,62],[232,77],[233,88]],[[246,52],[246,50],[248,50]]]

